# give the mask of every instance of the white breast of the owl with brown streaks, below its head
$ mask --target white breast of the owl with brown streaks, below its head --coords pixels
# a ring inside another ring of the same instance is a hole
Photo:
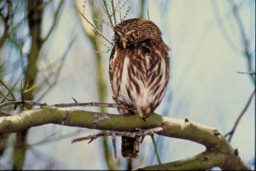
[[[164,55],[159,50],[151,53],[141,49],[117,50],[110,62],[114,96],[135,107],[155,108],[168,82],[168,63]]]

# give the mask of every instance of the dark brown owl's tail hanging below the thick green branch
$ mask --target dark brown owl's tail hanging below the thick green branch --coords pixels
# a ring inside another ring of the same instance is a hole
[[[139,157],[139,138],[122,137],[121,153],[125,158]]]

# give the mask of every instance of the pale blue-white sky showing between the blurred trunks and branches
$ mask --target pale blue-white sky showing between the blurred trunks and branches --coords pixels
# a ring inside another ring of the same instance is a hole
[[[58,1],[54,2],[58,4]],[[97,2],[101,8],[101,1]],[[248,39],[249,52],[253,56],[254,70],[255,3],[252,0],[234,2],[239,7],[239,15]],[[226,134],[232,129],[255,89],[248,75],[237,73],[237,71],[247,71],[247,62],[243,54],[241,33],[233,16],[230,2],[148,0],[145,3],[148,6],[150,19],[160,28],[165,44],[172,49],[169,52],[172,78],[169,81],[166,95],[155,112],[177,119],[188,118],[197,123],[215,127],[221,134]],[[82,9],[82,4],[83,1],[76,1],[80,9]],[[65,52],[70,38],[75,36],[58,84],[41,100],[48,104],[73,102],[71,96],[79,102],[99,101],[98,93],[100,92],[97,92],[95,81],[97,77],[95,52],[87,36],[84,35],[82,26],[88,31],[91,31],[91,27],[81,24],[74,5],[74,1],[66,1],[58,27],[45,47],[47,59],[54,61]],[[129,6],[132,9],[126,19],[138,17],[140,3],[135,0],[127,2],[123,7],[122,16]],[[85,14],[92,20],[89,7],[86,6]],[[52,14],[50,9],[48,11],[44,14],[46,18],[43,23],[43,36],[47,34],[52,23]],[[144,17],[147,18],[146,10]],[[113,31],[108,27],[103,27],[103,34],[109,39],[113,37]],[[103,46],[101,48],[105,49]],[[105,71],[104,79],[108,82],[107,102],[113,102],[108,75],[109,56],[110,52],[103,54],[105,63],[103,70]],[[41,67],[44,67],[44,61],[40,62]],[[251,165],[252,169],[254,169],[255,158],[254,101],[255,97],[231,140],[231,145],[238,148],[239,154]],[[90,107],[86,110],[99,111],[99,108]],[[115,109],[108,109],[108,112],[118,114]],[[38,142],[54,131],[67,134],[75,130],[79,128],[53,124],[32,127],[28,143]],[[89,129],[81,130],[81,133],[74,138],[99,132]],[[42,160],[53,160],[59,163],[57,168],[107,169],[100,139],[90,144],[86,141],[71,144],[71,139],[73,138],[34,146],[28,151],[26,160],[30,160],[36,151],[46,156]],[[121,141],[120,138],[117,139],[118,156],[121,156]],[[193,156],[205,150],[203,145],[188,140],[159,135],[156,135],[156,139],[162,163]],[[110,148],[112,150],[112,146]],[[154,156],[150,137],[146,137],[140,145],[140,157],[135,163],[138,164],[140,159],[144,158],[141,166],[157,164],[156,158],[147,160],[146,156]],[[125,164],[125,162],[122,159],[121,163]],[[35,163],[33,168],[41,168],[40,163]]]

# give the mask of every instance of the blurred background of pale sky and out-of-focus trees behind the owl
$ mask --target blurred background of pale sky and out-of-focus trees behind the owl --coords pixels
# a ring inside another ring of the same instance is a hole
[[[111,1],[106,3],[111,10]],[[172,49],[172,77],[155,112],[215,127],[223,135],[231,131],[255,90],[255,74],[237,73],[255,72],[255,2],[114,0],[114,5],[125,19],[147,18],[148,8],[150,19]],[[22,99],[21,80],[25,100],[55,104],[73,102],[74,97],[79,102],[113,102],[108,74],[111,45],[95,35],[74,6],[112,40],[112,29],[94,19],[108,21],[103,1],[0,1],[0,102]],[[13,108],[0,111],[15,115],[24,110]],[[116,109],[85,110],[118,114]],[[127,169],[158,164],[148,136],[137,160],[121,157],[121,138],[117,138],[118,161],[110,138],[71,144],[74,138],[97,133],[47,124],[2,135],[0,168]],[[162,163],[205,150],[187,140],[159,135],[155,139]],[[230,143],[254,169],[254,96]]]

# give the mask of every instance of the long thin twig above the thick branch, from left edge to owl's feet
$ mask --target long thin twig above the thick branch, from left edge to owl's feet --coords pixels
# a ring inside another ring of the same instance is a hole
[[[9,102],[4,102],[0,103],[0,108],[3,106],[7,105],[12,105],[12,104],[32,104],[32,105],[37,105],[37,106],[55,106],[55,107],[75,107],[75,106],[82,106],[82,107],[88,107],[88,106],[97,106],[97,107],[102,107],[102,108],[121,108],[121,109],[126,109],[126,110],[135,110],[133,106],[130,106],[128,104],[117,104],[117,103],[99,103],[99,102],[89,102],[89,103],[80,103],[80,102],[75,102],[75,103],[59,103],[59,104],[52,104],[48,105],[47,103],[41,103],[37,101],[30,101],[30,100],[24,100],[24,101],[9,101]]]

